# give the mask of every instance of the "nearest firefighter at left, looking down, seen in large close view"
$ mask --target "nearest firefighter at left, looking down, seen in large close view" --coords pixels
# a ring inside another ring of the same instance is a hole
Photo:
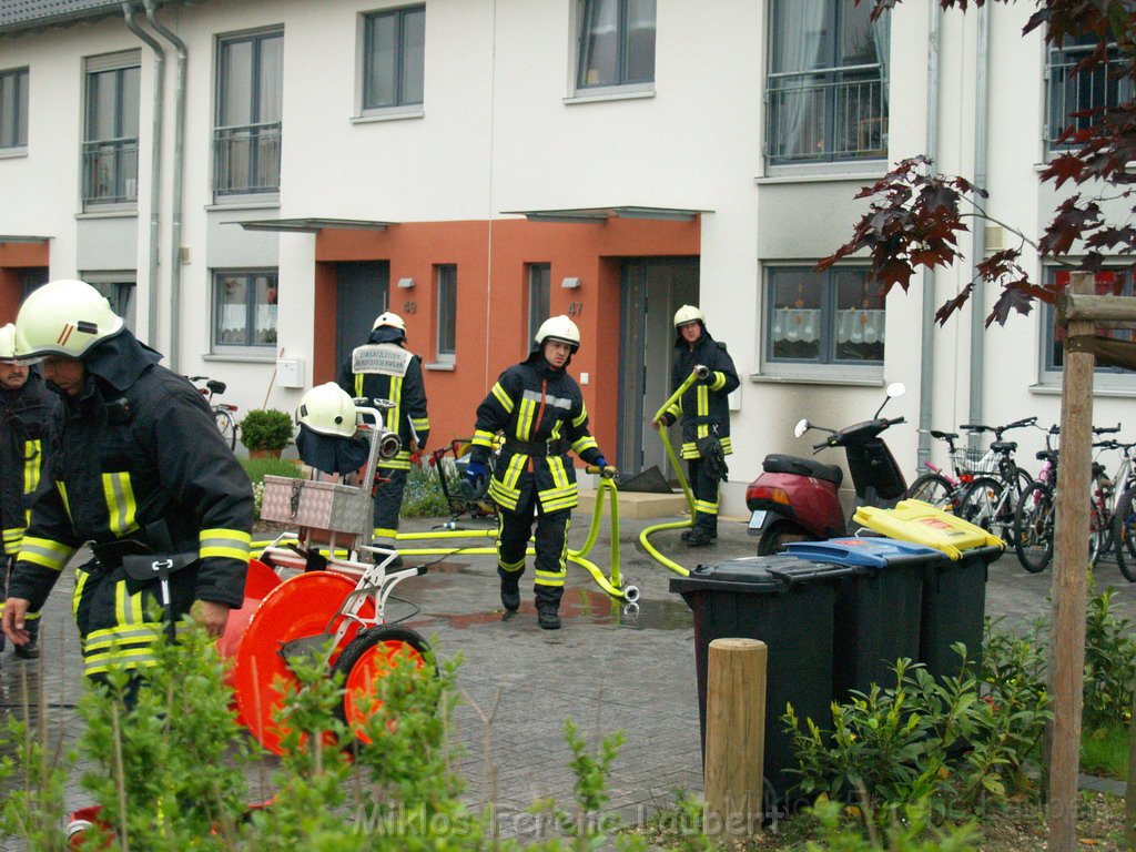
[[[167,613],[191,612],[219,635],[244,595],[252,487],[201,394],[159,366],[161,356],[80,281],[28,295],[16,354],[43,358],[62,404],[51,426],[50,482],[36,494],[8,588],[8,638],[27,642],[27,612],[43,605],[83,544],[95,559],[76,570],[72,603],[87,676],[153,663],[164,629],[159,584],[123,567],[140,552],[184,566],[169,577]]]

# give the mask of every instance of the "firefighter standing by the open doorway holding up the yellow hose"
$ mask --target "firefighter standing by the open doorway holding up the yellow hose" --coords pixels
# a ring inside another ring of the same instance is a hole
[[[679,308],[675,331],[678,337],[671,387],[678,390],[699,365],[709,370],[662,416],[667,426],[683,418],[682,456],[694,492],[694,519],[691,529],[683,533],[683,541],[688,548],[702,548],[718,537],[718,486],[727,475],[726,456],[734,451],[727,398],[741,382],[726,344],[710,336],[701,310],[690,304]],[[658,428],[660,423],[654,426]]]

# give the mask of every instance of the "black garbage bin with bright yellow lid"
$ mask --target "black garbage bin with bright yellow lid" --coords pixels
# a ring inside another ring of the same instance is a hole
[[[954,677],[961,659],[951,648],[961,642],[967,658],[978,660],[986,620],[986,578],[991,562],[1005,542],[975,524],[919,500],[903,500],[894,509],[861,508],[858,524],[892,538],[942,551],[946,560],[924,576],[919,628],[919,661],[935,677]]]

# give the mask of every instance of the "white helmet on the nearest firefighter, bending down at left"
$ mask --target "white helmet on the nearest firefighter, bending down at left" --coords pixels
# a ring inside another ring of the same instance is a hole
[[[98,290],[82,281],[51,281],[33,291],[16,317],[16,356],[82,358],[95,343],[118,334],[123,318]]]

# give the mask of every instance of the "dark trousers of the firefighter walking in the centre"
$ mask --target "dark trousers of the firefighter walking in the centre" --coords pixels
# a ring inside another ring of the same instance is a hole
[[[502,579],[520,578],[525,573],[525,550],[536,521],[535,550],[533,560],[533,593],[536,609],[560,609],[565,593],[565,577],[568,576],[568,525],[571,509],[545,512],[540,508],[535,494],[516,511],[501,509],[498,512],[498,574]]]

